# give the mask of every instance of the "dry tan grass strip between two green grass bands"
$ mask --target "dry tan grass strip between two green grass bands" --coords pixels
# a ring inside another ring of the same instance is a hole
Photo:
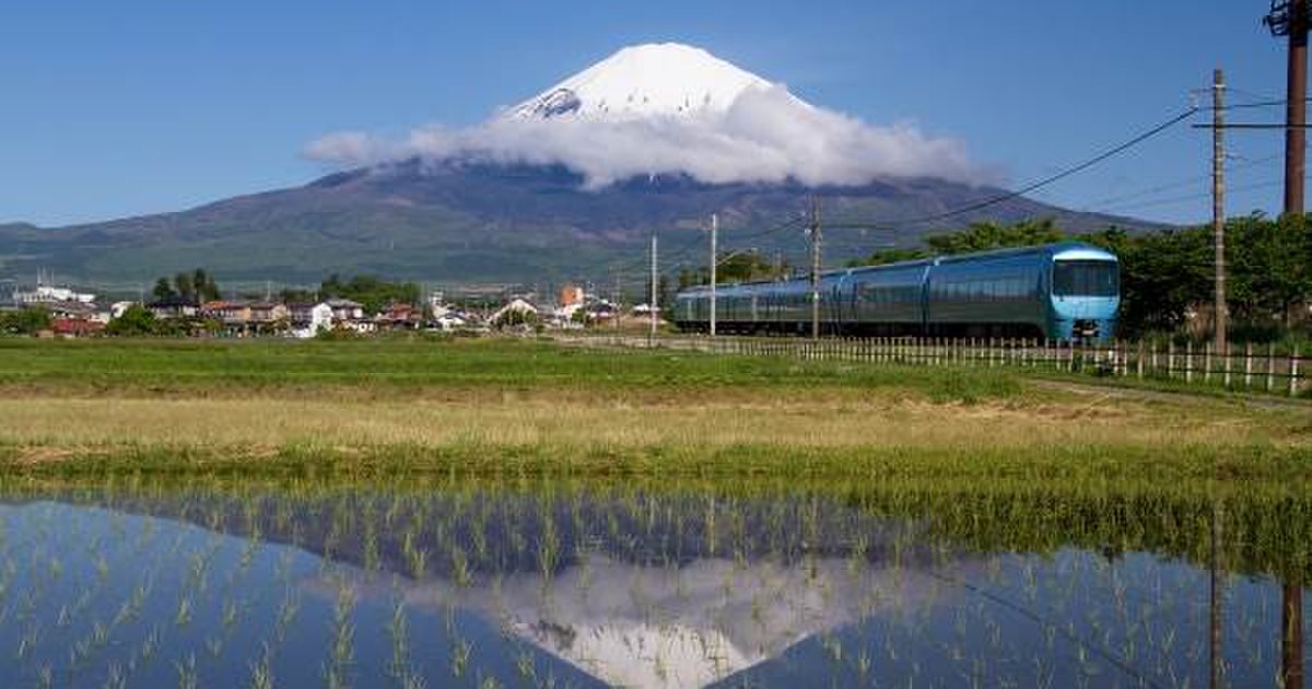
[[[1043,402],[930,403],[897,395],[794,400],[556,398],[342,402],[306,398],[0,400],[0,442],[89,445],[318,446],[568,445],[796,448],[1031,445],[1308,446],[1296,411],[1240,411],[1223,403],[1169,404],[1069,394]]]

